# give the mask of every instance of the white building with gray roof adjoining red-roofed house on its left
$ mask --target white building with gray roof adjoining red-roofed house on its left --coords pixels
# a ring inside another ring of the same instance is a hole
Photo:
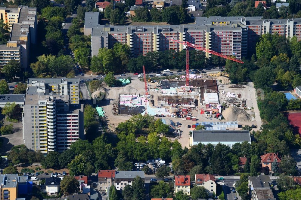
[[[144,171],[116,171],[115,186],[117,190],[123,190],[126,185],[132,185],[134,178],[141,177],[144,181]],[[108,186],[110,187],[110,185]]]

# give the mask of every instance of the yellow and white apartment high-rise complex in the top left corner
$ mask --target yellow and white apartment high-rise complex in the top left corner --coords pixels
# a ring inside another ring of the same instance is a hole
[[[14,59],[20,62],[21,68],[26,69],[29,65],[30,44],[36,44],[36,8],[0,7],[0,19],[8,24],[11,32],[7,44],[0,45],[0,68]]]

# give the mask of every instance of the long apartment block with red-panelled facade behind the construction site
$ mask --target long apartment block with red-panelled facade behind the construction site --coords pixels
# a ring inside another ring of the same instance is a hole
[[[97,16],[85,22],[85,35],[91,34],[92,56],[98,54],[99,48],[113,48],[116,42],[127,44],[134,57],[152,51],[185,48],[170,41],[173,38],[241,59],[255,51],[256,42],[265,33],[278,33],[287,38],[295,35],[301,40],[301,19],[195,17],[194,25],[110,26],[99,25]],[[206,56],[211,57],[211,54],[206,53]]]

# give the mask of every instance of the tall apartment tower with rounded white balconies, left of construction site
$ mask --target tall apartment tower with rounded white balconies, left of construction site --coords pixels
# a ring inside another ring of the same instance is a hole
[[[29,149],[62,152],[84,138],[78,78],[30,78],[23,110],[23,140]]]

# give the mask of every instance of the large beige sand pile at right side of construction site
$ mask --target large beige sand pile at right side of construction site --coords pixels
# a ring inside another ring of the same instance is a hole
[[[223,111],[222,115],[228,121],[250,121],[250,115],[243,109],[237,107],[230,107]]]

